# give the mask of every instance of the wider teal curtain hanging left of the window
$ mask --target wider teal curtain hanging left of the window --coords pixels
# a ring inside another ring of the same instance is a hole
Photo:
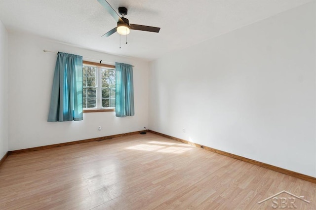
[[[58,52],[48,122],[82,119],[82,56]]]

